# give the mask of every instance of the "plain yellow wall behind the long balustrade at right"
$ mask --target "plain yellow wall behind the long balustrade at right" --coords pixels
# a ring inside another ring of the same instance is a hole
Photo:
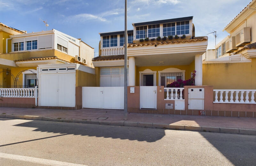
[[[256,58],[245,63],[203,64],[203,85],[214,89],[256,89]]]

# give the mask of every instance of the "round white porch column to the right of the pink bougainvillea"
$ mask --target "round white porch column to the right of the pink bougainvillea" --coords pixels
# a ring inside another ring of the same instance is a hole
[[[203,84],[203,63],[202,63],[202,55],[197,54],[195,56],[195,85],[199,86]]]

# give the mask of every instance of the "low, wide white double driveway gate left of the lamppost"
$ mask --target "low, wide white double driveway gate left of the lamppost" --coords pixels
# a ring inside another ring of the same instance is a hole
[[[124,109],[124,87],[83,87],[83,108]]]

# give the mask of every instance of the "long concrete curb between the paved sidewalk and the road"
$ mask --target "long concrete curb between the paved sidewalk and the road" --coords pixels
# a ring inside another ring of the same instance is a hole
[[[44,117],[44,116],[11,115],[11,114],[0,114],[0,118],[256,135],[256,129],[232,128],[232,127],[210,127],[210,126],[190,126],[190,125],[172,125],[172,124],[169,125],[169,124],[163,124],[163,123],[128,122],[128,121],[113,121],[113,122],[105,121],[104,122],[104,121],[97,121],[97,120],[59,119],[59,118],[50,118],[50,117]]]

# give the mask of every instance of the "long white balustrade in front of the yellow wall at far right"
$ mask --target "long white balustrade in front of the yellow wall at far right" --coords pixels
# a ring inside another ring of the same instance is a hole
[[[213,90],[215,92],[213,103],[244,103],[256,104],[254,100],[254,93],[256,90]],[[220,96],[220,100],[218,98]],[[245,98],[244,98],[245,95]],[[223,97],[224,96],[224,97]]]

